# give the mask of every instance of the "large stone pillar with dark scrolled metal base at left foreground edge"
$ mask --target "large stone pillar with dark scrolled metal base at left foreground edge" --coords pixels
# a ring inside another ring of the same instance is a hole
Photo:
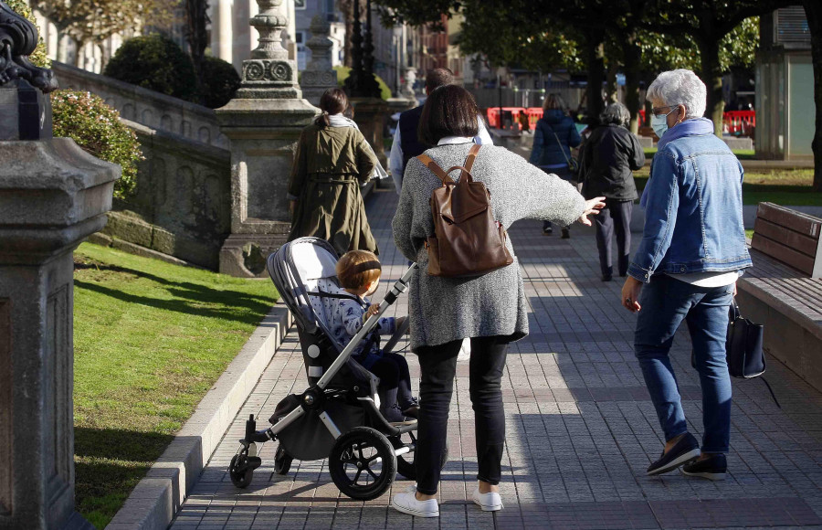
[[[57,84],[3,3],[0,42],[0,528],[93,528],[74,511],[72,251],[121,169],[51,138]]]

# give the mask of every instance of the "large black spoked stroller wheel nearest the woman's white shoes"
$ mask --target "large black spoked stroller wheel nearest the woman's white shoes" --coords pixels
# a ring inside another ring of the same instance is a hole
[[[340,491],[359,501],[370,501],[385,493],[396,476],[391,442],[370,427],[355,427],[338,438],[328,466]]]

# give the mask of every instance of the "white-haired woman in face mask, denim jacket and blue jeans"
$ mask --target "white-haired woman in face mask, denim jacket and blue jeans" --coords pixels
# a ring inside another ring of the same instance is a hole
[[[686,475],[722,480],[731,430],[728,310],[737,278],[753,265],[743,228],[743,168],[702,117],[705,84],[692,71],[659,74],[647,97],[659,146],[640,201],[645,230],[622,304],[638,312],[634,349],[666,440],[648,475],[684,464]],[[700,374],[701,447],[688,432],[669,358],[682,321]]]

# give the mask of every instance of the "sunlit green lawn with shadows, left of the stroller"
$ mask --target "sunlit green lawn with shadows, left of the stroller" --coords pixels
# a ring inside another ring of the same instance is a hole
[[[103,528],[278,294],[88,243],[74,260],[76,504]]]

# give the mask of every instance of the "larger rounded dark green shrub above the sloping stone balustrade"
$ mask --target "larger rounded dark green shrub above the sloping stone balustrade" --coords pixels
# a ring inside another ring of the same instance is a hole
[[[106,65],[105,75],[186,101],[197,101],[191,58],[161,35],[133,37]]]

